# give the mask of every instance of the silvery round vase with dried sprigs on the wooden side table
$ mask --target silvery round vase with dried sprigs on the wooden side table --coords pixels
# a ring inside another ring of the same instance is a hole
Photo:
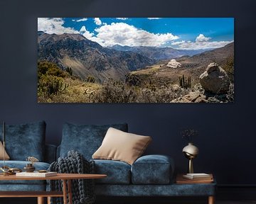
[[[183,139],[188,141],[188,145],[183,148],[182,152],[188,159],[188,173],[193,174],[193,159],[199,154],[199,149],[193,145],[193,137],[198,135],[198,131],[193,129],[185,129],[181,131],[181,136]]]

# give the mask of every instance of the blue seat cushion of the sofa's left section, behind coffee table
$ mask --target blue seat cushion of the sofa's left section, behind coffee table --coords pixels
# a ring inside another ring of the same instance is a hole
[[[18,168],[23,170],[23,167],[26,166],[29,162],[26,161],[6,161],[5,165],[10,168]],[[0,166],[4,166],[4,161],[0,161]],[[35,162],[33,166],[36,167],[35,171],[46,170],[49,168],[50,164],[45,162]],[[0,181],[0,184],[45,184],[46,181]]]

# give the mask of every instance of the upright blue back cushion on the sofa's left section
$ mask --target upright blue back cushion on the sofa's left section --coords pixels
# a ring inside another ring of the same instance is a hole
[[[3,125],[0,125],[2,130]],[[44,121],[23,125],[6,125],[6,152],[11,160],[24,161],[36,157],[44,161],[46,123]],[[0,138],[3,138],[0,131]]]

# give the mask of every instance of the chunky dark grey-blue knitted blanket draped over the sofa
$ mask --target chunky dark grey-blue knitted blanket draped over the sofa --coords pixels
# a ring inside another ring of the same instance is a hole
[[[69,174],[95,174],[95,162],[88,162],[82,154],[72,150],[68,152],[68,157],[60,157],[58,162],[50,164],[49,170]],[[50,191],[62,191],[62,181],[50,180],[48,183],[50,184]],[[72,180],[72,198],[73,204],[95,203],[94,179]],[[62,204],[63,198],[51,198],[50,203]]]

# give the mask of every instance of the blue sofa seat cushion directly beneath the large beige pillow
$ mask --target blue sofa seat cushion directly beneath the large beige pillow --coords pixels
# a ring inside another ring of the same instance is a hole
[[[129,184],[131,166],[125,162],[112,160],[94,160],[96,174],[107,174],[104,179],[95,179],[96,183]]]

